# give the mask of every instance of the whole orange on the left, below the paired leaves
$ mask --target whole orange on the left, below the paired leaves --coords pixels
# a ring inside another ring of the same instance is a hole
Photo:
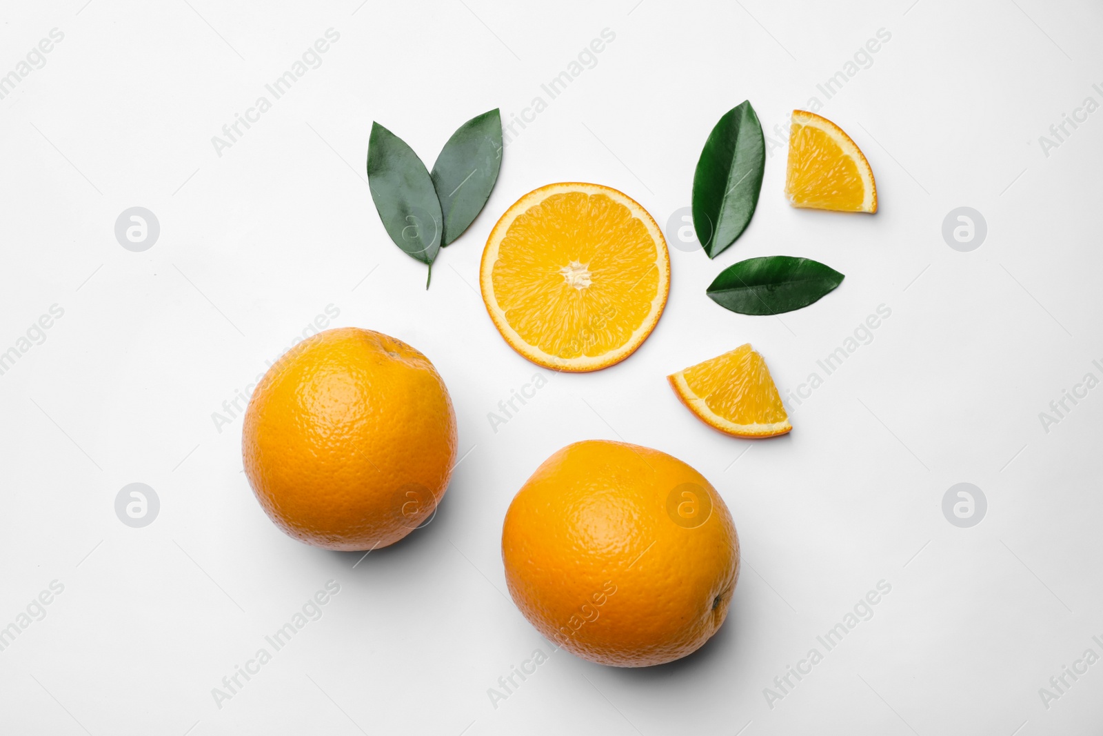
[[[245,413],[245,474],[268,516],[326,550],[394,544],[428,519],[456,465],[456,413],[420,352],[326,330],[269,369]]]

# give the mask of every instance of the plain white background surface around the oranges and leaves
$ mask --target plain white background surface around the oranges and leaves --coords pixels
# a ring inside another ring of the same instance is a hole
[[[1103,654],[1103,388],[1048,433],[1039,419],[1103,377],[1103,113],[1048,157],[1039,145],[1086,96],[1103,103],[1097,3],[4,4],[0,74],[51,29],[64,40],[0,100],[0,350],[52,305],[64,316],[0,375],[0,626],[51,580],[64,591],[0,652],[3,733],[1099,733],[1103,663],[1048,710],[1039,696]],[[219,157],[212,136],[330,28],[322,65]],[[607,28],[596,66],[549,100],[540,84]],[[816,84],[878,29],[890,41],[826,99]],[[372,120],[431,162],[468,118],[500,106],[508,122],[537,95],[547,109],[426,291],[368,196]],[[790,209],[779,148],[732,248],[672,247],[666,311],[632,358],[554,376],[493,431],[488,413],[537,372],[476,294],[496,217],[580,180],[665,226],[726,110],[750,99],[777,138],[812,96],[868,157],[880,212]],[[161,227],[143,253],[114,234],[136,205]],[[988,225],[971,253],[941,234],[963,205]],[[781,319],[706,298],[721,268],[770,254],[846,280]],[[333,326],[435,362],[468,454],[432,523],[363,561],[280,533],[242,474],[240,419],[213,418],[329,305]],[[784,438],[714,433],[666,385],[749,341],[795,390],[879,305],[891,317],[792,406]],[[494,707],[499,676],[552,652],[505,594],[503,514],[585,438],[665,450],[714,482],[746,552],[731,614],[664,666],[555,653]],[[941,508],[962,481],[988,500],[971,529]],[[161,501],[143,529],[115,513],[130,482]],[[212,689],[330,579],[322,618],[217,707]],[[874,618],[771,708],[763,689],[882,579]]]

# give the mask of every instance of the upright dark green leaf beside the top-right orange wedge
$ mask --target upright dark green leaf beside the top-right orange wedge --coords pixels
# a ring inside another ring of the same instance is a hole
[[[743,100],[725,114],[705,141],[693,177],[693,226],[709,258],[742,235],[758,206],[765,139],[754,108]]]

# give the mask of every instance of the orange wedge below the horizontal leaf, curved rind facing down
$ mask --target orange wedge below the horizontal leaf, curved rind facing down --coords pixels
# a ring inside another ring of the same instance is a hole
[[[666,376],[694,415],[732,437],[777,437],[793,428],[770,377],[750,343]]]

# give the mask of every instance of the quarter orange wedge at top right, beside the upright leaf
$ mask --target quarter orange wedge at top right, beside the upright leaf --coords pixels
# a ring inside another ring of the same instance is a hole
[[[877,184],[861,150],[837,125],[804,110],[793,110],[785,196],[794,207],[877,212]]]

